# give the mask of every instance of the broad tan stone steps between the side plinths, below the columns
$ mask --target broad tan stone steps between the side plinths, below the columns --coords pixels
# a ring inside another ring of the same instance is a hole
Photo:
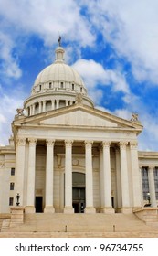
[[[10,231],[20,232],[149,232],[134,214],[25,214],[25,223]],[[157,229],[158,231],[158,229]]]

